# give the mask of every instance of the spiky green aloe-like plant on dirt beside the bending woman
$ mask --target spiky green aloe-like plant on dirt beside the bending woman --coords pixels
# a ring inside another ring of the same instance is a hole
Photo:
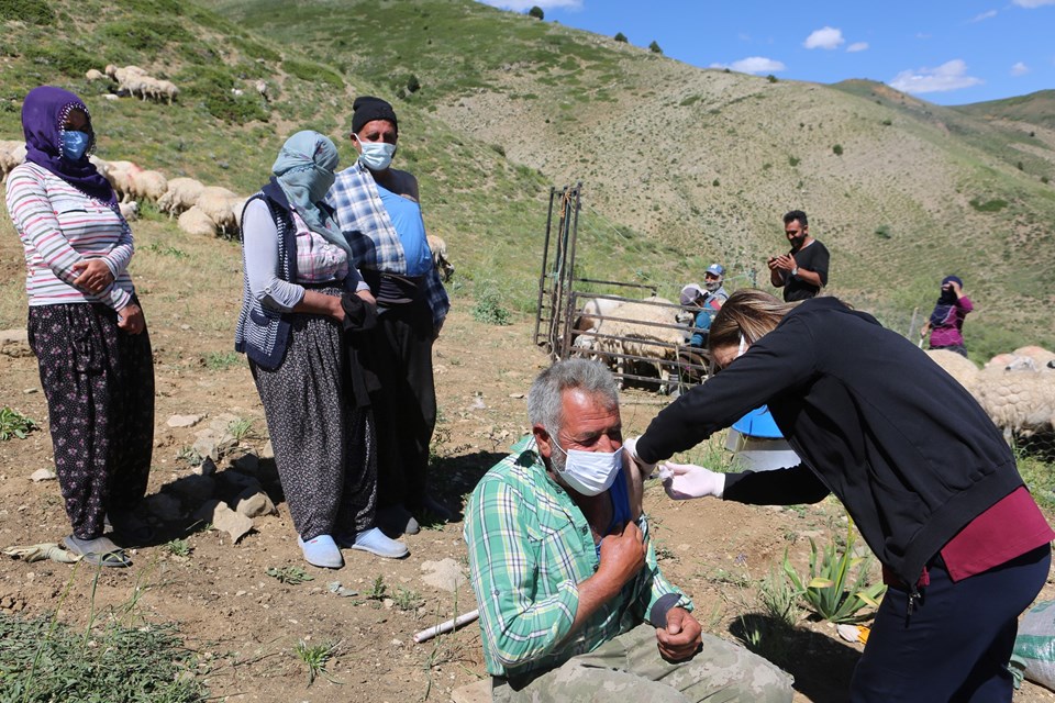
[[[846,545],[840,551],[833,539],[823,549],[810,538],[810,571],[808,580],[800,578],[791,566],[788,551],[784,551],[784,570],[798,590],[802,600],[818,615],[832,623],[859,623],[871,617],[862,613],[866,607],[878,607],[887,587],[868,584],[868,567],[871,555],[855,557],[854,524],[846,526]]]

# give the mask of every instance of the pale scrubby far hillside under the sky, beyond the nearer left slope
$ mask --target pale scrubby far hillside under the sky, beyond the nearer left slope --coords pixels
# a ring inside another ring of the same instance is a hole
[[[581,179],[603,217],[723,260],[742,281],[784,248],[780,214],[802,208],[832,249],[832,292],[892,326],[929,312],[936,281],[956,271],[978,302],[979,354],[1055,341],[1037,325],[1055,259],[1055,138],[1042,126],[996,125],[868,81],[701,70],[469,0],[219,8],[341,71],[384,77],[398,104],[553,182]],[[674,257],[667,276],[699,268]]]

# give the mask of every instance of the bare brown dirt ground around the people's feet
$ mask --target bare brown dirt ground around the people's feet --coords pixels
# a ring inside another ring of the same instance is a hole
[[[157,242],[155,230],[145,227],[141,242]],[[0,246],[7,264],[15,252],[11,244]],[[166,246],[188,252],[191,263],[203,256],[201,245],[187,239]],[[133,568],[104,570],[97,584],[90,568],[0,557],[3,612],[37,615],[57,609],[62,621],[82,627],[92,613],[99,617],[134,603],[132,612],[141,622],[178,623],[187,645],[202,655],[201,671],[216,700],[448,701],[454,689],[485,677],[478,626],[422,645],[415,645],[412,636],[475,607],[468,585],[452,593],[423,581],[426,562],[449,559],[466,569],[462,523],[406,537],[411,556],[403,560],[345,550],[346,565],[337,571],[303,562],[274,479],[263,412],[244,359],[214,356],[231,348],[241,290],[236,247],[221,248],[218,258],[227,276],[204,292],[181,293],[180,277],[158,275],[168,265],[158,247],[157,261],[151,264],[149,254],[144,255],[145,272],[136,276],[156,357],[149,492],[171,492],[174,482],[190,475],[179,455],[193,444],[196,432],[227,413],[252,420],[254,432],[218,462],[221,472],[246,454],[259,456],[256,473],[277,499],[279,514],[256,518],[255,529],[237,544],[189,517],[159,524],[156,544],[134,550]],[[16,275],[12,269],[8,270]],[[202,298],[188,302],[188,295]],[[479,477],[526,431],[524,394],[547,364],[531,343],[532,321],[485,325],[468,313],[471,304],[467,298],[455,298],[435,350],[441,421],[433,471],[440,495],[453,507],[463,505]],[[193,314],[195,310],[206,312]],[[34,358],[0,355],[0,405],[11,405],[42,425],[26,439],[0,444],[0,547],[58,542],[69,528],[58,487],[55,481],[30,480],[35,470],[52,466]],[[626,434],[641,432],[660,406],[660,399],[646,390],[626,392],[622,406]],[[170,416],[188,414],[203,420],[196,427],[167,426]],[[831,499],[808,509],[675,503],[657,486],[646,491],[645,507],[656,526],[663,569],[693,596],[704,629],[730,639],[744,636],[759,622],[757,582],[779,567],[785,549],[801,566],[808,537],[826,542],[830,525],[839,529],[843,515]],[[165,546],[176,538],[188,542],[189,555],[177,556]],[[286,566],[303,566],[314,580],[284,584],[265,573]],[[366,598],[379,578],[387,600]],[[331,592],[327,584],[334,581],[359,595]],[[67,588],[69,594],[64,595]],[[1042,596],[1053,595],[1050,582]],[[759,646],[795,674],[796,701],[845,700],[860,645],[840,639],[831,625],[809,620],[790,636],[760,632]],[[295,654],[301,640],[337,644],[336,656],[326,666],[329,677],[310,685],[308,670]],[[1055,695],[1026,683],[1015,700],[1055,701]]]

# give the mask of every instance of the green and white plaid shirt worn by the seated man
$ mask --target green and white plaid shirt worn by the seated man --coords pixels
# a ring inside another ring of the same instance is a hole
[[[473,591],[480,610],[484,657],[495,676],[520,677],[558,667],[644,622],[653,603],[678,593],[659,573],[652,544],[637,578],[568,637],[578,584],[600,563],[582,511],[546,473],[534,443],[480,480],[465,511]],[[644,514],[637,526],[648,539]]]

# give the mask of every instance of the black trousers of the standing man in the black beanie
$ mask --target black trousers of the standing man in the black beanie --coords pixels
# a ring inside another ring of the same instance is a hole
[[[379,309],[369,335],[380,390],[370,394],[377,422],[377,506],[419,507],[436,426],[432,311],[425,300]]]

